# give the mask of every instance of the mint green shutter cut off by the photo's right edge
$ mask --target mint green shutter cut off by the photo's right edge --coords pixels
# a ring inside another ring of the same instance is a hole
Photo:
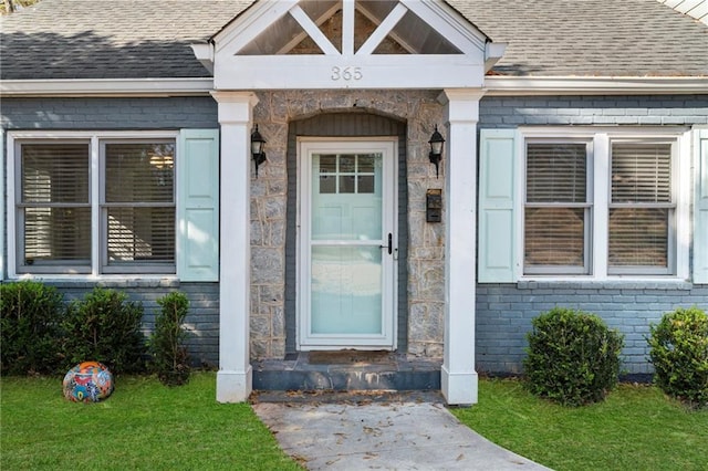
[[[708,283],[708,129],[697,130],[694,283]]]

